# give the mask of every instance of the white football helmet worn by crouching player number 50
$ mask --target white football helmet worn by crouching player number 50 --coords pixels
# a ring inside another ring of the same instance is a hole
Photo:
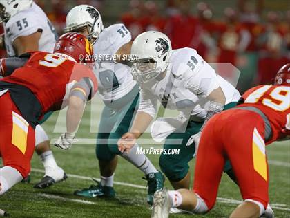
[[[146,83],[166,70],[171,55],[171,41],[162,32],[148,31],[139,34],[133,41],[131,54],[133,61],[131,74],[138,83]]]

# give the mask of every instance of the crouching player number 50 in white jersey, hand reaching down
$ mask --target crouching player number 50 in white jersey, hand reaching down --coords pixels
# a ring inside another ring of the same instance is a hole
[[[240,94],[195,50],[171,50],[170,40],[161,32],[137,36],[131,54],[138,57],[132,74],[141,87],[140,103],[133,127],[119,140],[119,148],[130,148],[144,133],[157,113],[158,100],[164,108],[180,111],[177,118],[158,118],[151,126],[151,135],[159,141],[166,139],[164,149],[180,149],[178,155],[162,154],[160,167],[173,188],[189,188],[188,163],[198,144],[190,140],[191,136],[198,140],[203,123],[215,113],[233,107]]]

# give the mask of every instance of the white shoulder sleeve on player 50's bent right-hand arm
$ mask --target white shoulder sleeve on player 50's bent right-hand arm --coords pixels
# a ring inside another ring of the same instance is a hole
[[[188,87],[195,95],[206,98],[214,89],[220,87],[218,75],[215,70],[205,61],[197,72],[190,69],[184,72],[186,79],[186,87]]]

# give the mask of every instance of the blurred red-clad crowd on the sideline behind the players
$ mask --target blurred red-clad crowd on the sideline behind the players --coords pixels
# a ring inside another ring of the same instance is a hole
[[[238,89],[271,83],[290,61],[290,3],[287,0],[35,0],[59,34],[66,14],[87,3],[101,12],[105,27],[124,23],[133,37],[160,30],[173,48],[193,47],[210,63],[240,69]],[[0,56],[6,56],[1,50]]]

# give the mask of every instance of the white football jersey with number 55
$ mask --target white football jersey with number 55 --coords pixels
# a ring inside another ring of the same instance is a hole
[[[17,54],[12,45],[14,39],[17,39],[19,36],[28,36],[38,30],[42,31],[39,39],[39,51],[52,53],[55,41],[58,38],[57,33],[43,10],[33,2],[30,8],[18,12],[10,17],[7,23],[4,23],[5,44],[8,56],[15,56]]]

